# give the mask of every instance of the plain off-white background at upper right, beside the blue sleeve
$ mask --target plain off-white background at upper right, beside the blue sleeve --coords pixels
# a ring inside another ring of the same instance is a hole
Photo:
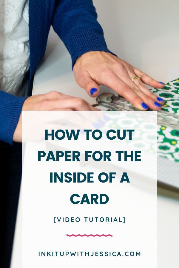
[[[109,48],[159,81],[179,68],[178,0],[95,0]]]

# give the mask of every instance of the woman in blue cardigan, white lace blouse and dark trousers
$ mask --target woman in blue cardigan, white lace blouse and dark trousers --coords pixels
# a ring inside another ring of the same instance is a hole
[[[1,266],[6,268],[10,265],[21,179],[21,110],[95,110],[84,100],[50,92],[50,88],[48,94],[31,96],[33,76],[44,55],[51,24],[72,57],[76,82],[90,96],[96,97],[99,85],[106,85],[141,110],[159,110],[163,99],[143,83],[156,88],[164,83],[108,50],[92,0],[3,0],[0,13],[0,148],[1,172],[6,175],[1,190]]]

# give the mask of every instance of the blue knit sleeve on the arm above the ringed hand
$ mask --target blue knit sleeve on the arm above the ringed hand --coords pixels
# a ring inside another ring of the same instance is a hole
[[[72,57],[72,67],[85,52],[110,52],[92,0],[56,1],[52,26]]]

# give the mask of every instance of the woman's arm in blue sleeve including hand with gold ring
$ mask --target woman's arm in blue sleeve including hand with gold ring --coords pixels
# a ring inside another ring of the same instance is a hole
[[[92,0],[56,1],[52,25],[71,54],[76,82],[90,96],[96,97],[99,85],[106,85],[140,110],[161,109],[163,99],[144,84],[162,88],[164,83],[153,80],[108,50]],[[141,75],[141,80],[132,81],[136,75]]]

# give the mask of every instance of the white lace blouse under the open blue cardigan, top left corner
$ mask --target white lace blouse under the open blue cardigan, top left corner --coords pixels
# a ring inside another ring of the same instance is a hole
[[[0,0],[0,90],[24,96],[29,70],[28,0]]]

